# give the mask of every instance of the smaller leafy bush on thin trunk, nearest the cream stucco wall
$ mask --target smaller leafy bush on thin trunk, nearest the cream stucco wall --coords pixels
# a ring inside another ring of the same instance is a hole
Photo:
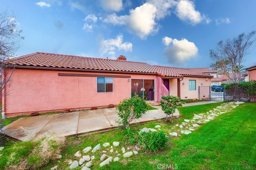
[[[172,114],[175,113],[175,110],[178,107],[181,107],[185,102],[178,96],[162,96],[160,100],[160,106],[162,107],[162,111],[166,114],[166,121],[171,122]]]

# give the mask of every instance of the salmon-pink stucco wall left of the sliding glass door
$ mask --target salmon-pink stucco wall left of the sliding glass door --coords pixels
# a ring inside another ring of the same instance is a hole
[[[131,82],[128,79],[156,79],[156,76],[145,75],[131,75],[131,78],[114,77],[113,92],[97,93],[96,76],[58,76],[58,73],[106,74],[106,77],[128,75],[15,69],[11,83],[6,87],[8,95],[4,96],[6,115],[116,105],[131,96]]]

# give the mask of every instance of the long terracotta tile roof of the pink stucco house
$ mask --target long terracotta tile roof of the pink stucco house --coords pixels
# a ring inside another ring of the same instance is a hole
[[[74,68],[82,70],[105,70],[105,71],[123,71],[123,72],[140,72],[140,73],[152,73],[160,74],[165,77],[183,77],[187,76],[200,76],[200,77],[212,77],[201,72],[196,72],[188,68],[175,68],[166,66],[153,66],[147,63],[132,62],[125,60],[112,60],[101,59],[91,57],[80,57],[74,55],[61,55],[52,53],[36,52],[14,59],[4,61],[6,63],[16,64],[16,68],[19,66],[28,67],[47,67],[51,68]]]

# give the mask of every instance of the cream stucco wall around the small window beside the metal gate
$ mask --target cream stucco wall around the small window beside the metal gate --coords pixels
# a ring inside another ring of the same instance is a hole
[[[196,80],[196,90],[189,90],[188,81]],[[184,82],[185,84],[182,84]],[[203,82],[203,84],[201,84]],[[211,86],[210,78],[184,77],[180,81],[180,98],[182,99],[198,99],[198,86]]]

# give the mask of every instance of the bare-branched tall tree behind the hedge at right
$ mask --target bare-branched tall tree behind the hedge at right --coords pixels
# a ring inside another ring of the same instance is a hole
[[[220,70],[228,77],[229,82],[240,82],[242,78],[241,68],[244,56],[249,53],[249,48],[256,41],[256,31],[247,35],[242,33],[233,39],[220,41],[215,50],[210,50],[213,61],[211,67]]]

